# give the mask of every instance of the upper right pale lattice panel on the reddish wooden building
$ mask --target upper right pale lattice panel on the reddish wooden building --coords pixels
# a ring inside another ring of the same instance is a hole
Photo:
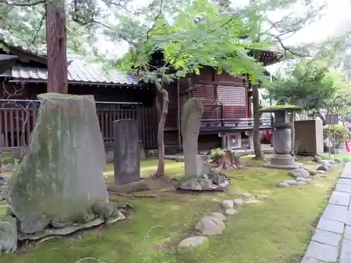
[[[223,105],[246,106],[246,88],[218,86],[218,100]]]

